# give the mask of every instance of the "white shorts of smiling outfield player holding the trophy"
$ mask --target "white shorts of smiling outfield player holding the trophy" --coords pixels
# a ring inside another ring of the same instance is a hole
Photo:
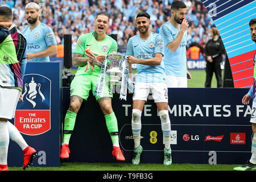
[[[150,93],[155,102],[168,102],[168,88],[165,82],[136,82],[133,100],[147,101]]]

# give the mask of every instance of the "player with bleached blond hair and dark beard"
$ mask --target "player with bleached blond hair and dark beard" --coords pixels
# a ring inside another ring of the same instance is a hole
[[[22,30],[27,39],[28,61],[49,61],[49,56],[57,53],[57,43],[54,32],[39,20],[40,7],[37,3],[28,3],[25,7],[25,16],[29,24]]]

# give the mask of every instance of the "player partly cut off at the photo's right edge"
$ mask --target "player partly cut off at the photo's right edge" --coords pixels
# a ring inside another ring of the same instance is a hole
[[[256,43],[256,18],[251,19],[250,23],[250,32],[251,32],[251,40],[253,40]],[[256,45],[256,44],[254,44]],[[256,89],[256,52],[254,55],[254,80],[253,80],[253,86],[251,86],[249,92],[243,96],[242,103],[247,105],[249,104],[249,101],[251,98],[253,98],[253,108],[252,111],[256,109],[256,97],[255,97],[255,89]],[[253,112],[251,114],[251,120],[252,124],[252,130],[253,130],[253,139],[251,140],[251,159],[247,161],[246,164],[235,167],[234,170],[236,171],[256,171],[256,114]]]

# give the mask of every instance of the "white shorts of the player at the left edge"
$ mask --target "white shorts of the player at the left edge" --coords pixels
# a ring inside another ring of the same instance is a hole
[[[12,119],[21,91],[18,89],[2,88],[0,86],[0,118]]]

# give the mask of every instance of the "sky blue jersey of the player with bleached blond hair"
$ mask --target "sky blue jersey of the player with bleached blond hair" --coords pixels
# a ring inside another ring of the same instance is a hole
[[[22,30],[22,34],[27,39],[27,52],[41,52],[48,48],[48,46],[57,44],[54,32],[50,27],[44,23],[39,23],[33,30],[27,26]],[[35,59],[30,59],[28,61],[49,61],[49,56],[47,57],[36,57]]]

